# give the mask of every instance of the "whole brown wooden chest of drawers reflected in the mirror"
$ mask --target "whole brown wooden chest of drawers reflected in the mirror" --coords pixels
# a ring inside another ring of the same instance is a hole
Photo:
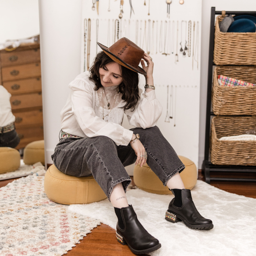
[[[44,139],[40,45],[0,50],[0,84],[11,93],[12,113],[20,137],[17,149]]]

